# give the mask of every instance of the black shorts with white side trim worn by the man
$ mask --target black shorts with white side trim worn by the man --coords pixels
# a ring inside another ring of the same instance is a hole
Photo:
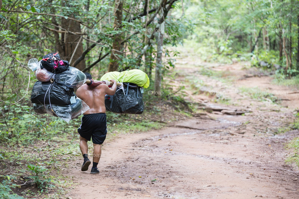
[[[88,141],[92,138],[94,144],[103,144],[107,134],[106,113],[83,115],[78,133]]]

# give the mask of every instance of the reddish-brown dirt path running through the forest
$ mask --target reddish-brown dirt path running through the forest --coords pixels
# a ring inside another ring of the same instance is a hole
[[[175,70],[180,75],[175,79],[183,80],[192,74],[205,82],[206,87],[224,93],[230,103],[213,104],[214,95],[194,93],[186,85],[187,99],[250,113],[207,113],[173,124],[180,127],[121,135],[104,145],[98,165],[100,174],[81,172],[81,160],[72,163],[75,166],[67,175],[77,185],[67,198],[299,197],[299,172],[285,164],[290,152],[283,148],[283,143],[299,136],[299,132],[275,134],[277,128],[292,121],[299,96],[283,94],[289,100],[283,100],[282,105],[254,100],[238,88],[270,88],[278,97],[280,91],[294,91],[273,85],[269,77],[242,78],[250,71],[242,70],[240,64],[217,67],[235,77],[229,83],[201,75],[195,65],[188,63],[187,58],[179,59]]]

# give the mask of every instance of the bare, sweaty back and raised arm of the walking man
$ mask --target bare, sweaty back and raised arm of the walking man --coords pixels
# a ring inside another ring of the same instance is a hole
[[[106,113],[105,95],[114,95],[116,91],[116,81],[111,81],[113,82],[112,88],[109,88],[106,84],[100,84],[96,87],[83,84],[78,88],[76,95],[89,106],[89,109],[83,115]]]

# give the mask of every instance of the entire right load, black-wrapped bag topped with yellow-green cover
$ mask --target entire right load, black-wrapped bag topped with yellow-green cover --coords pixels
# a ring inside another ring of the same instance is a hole
[[[105,95],[106,110],[113,113],[142,114],[144,110],[144,88],[150,86],[147,74],[139,69],[123,72],[108,72],[100,80],[114,79],[123,83],[114,95]]]

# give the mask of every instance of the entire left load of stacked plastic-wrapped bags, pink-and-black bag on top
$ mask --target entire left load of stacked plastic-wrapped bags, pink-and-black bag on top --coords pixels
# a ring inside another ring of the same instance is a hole
[[[36,113],[49,113],[66,122],[77,118],[89,109],[74,93],[74,88],[86,82],[86,76],[69,62],[60,59],[58,53],[50,53],[41,61],[28,61],[28,67],[35,71],[38,81],[31,92],[31,102]]]

